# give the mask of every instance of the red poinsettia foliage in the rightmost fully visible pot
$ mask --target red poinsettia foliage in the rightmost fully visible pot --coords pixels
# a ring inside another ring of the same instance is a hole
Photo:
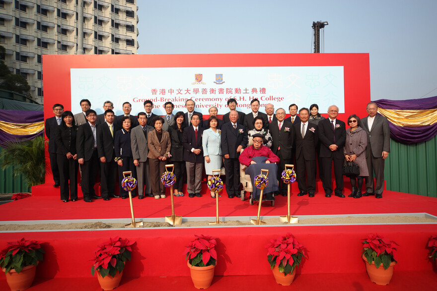
[[[397,263],[397,247],[399,245],[393,240],[386,238],[385,235],[370,233],[363,240],[363,253],[367,262],[375,262],[375,267],[379,268],[381,264],[384,270],[390,266],[391,262]]]

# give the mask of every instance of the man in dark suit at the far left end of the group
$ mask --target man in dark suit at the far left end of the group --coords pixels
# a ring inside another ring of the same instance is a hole
[[[47,118],[45,124],[45,131],[47,138],[49,139],[49,158],[50,158],[50,168],[52,169],[53,180],[55,184],[53,187],[59,187],[60,185],[60,175],[59,175],[59,167],[57,162],[57,147],[55,143],[55,132],[56,127],[61,125],[61,117],[64,113],[64,106],[62,104],[55,104],[52,107],[53,113],[55,116]]]

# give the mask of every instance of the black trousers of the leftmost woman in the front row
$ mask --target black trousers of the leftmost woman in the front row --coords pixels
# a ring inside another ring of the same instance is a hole
[[[61,200],[77,199],[77,160],[67,159],[66,155],[57,155],[61,184]]]

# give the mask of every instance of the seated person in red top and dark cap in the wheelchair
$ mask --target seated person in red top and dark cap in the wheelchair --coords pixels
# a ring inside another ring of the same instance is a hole
[[[279,158],[272,150],[263,145],[263,135],[253,135],[253,145],[248,146],[240,154],[238,160],[241,164],[247,166],[246,174],[250,175],[253,184],[252,197],[254,200],[259,200],[261,190],[255,187],[254,179],[256,175],[261,174],[261,169],[269,170],[267,177],[269,184],[264,189],[263,196],[265,200],[275,200],[273,193],[279,191],[278,182],[276,180],[278,166],[275,163],[279,162]]]

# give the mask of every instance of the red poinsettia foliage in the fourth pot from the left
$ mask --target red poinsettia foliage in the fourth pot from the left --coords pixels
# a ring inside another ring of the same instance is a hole
[[[281,273],[285,276],[293,273],[294,268],[302,263],[305,257],[303,244],[299,243],[291,233],[272,239],[267,248],[267,260],[273,269],[278,266]]]

